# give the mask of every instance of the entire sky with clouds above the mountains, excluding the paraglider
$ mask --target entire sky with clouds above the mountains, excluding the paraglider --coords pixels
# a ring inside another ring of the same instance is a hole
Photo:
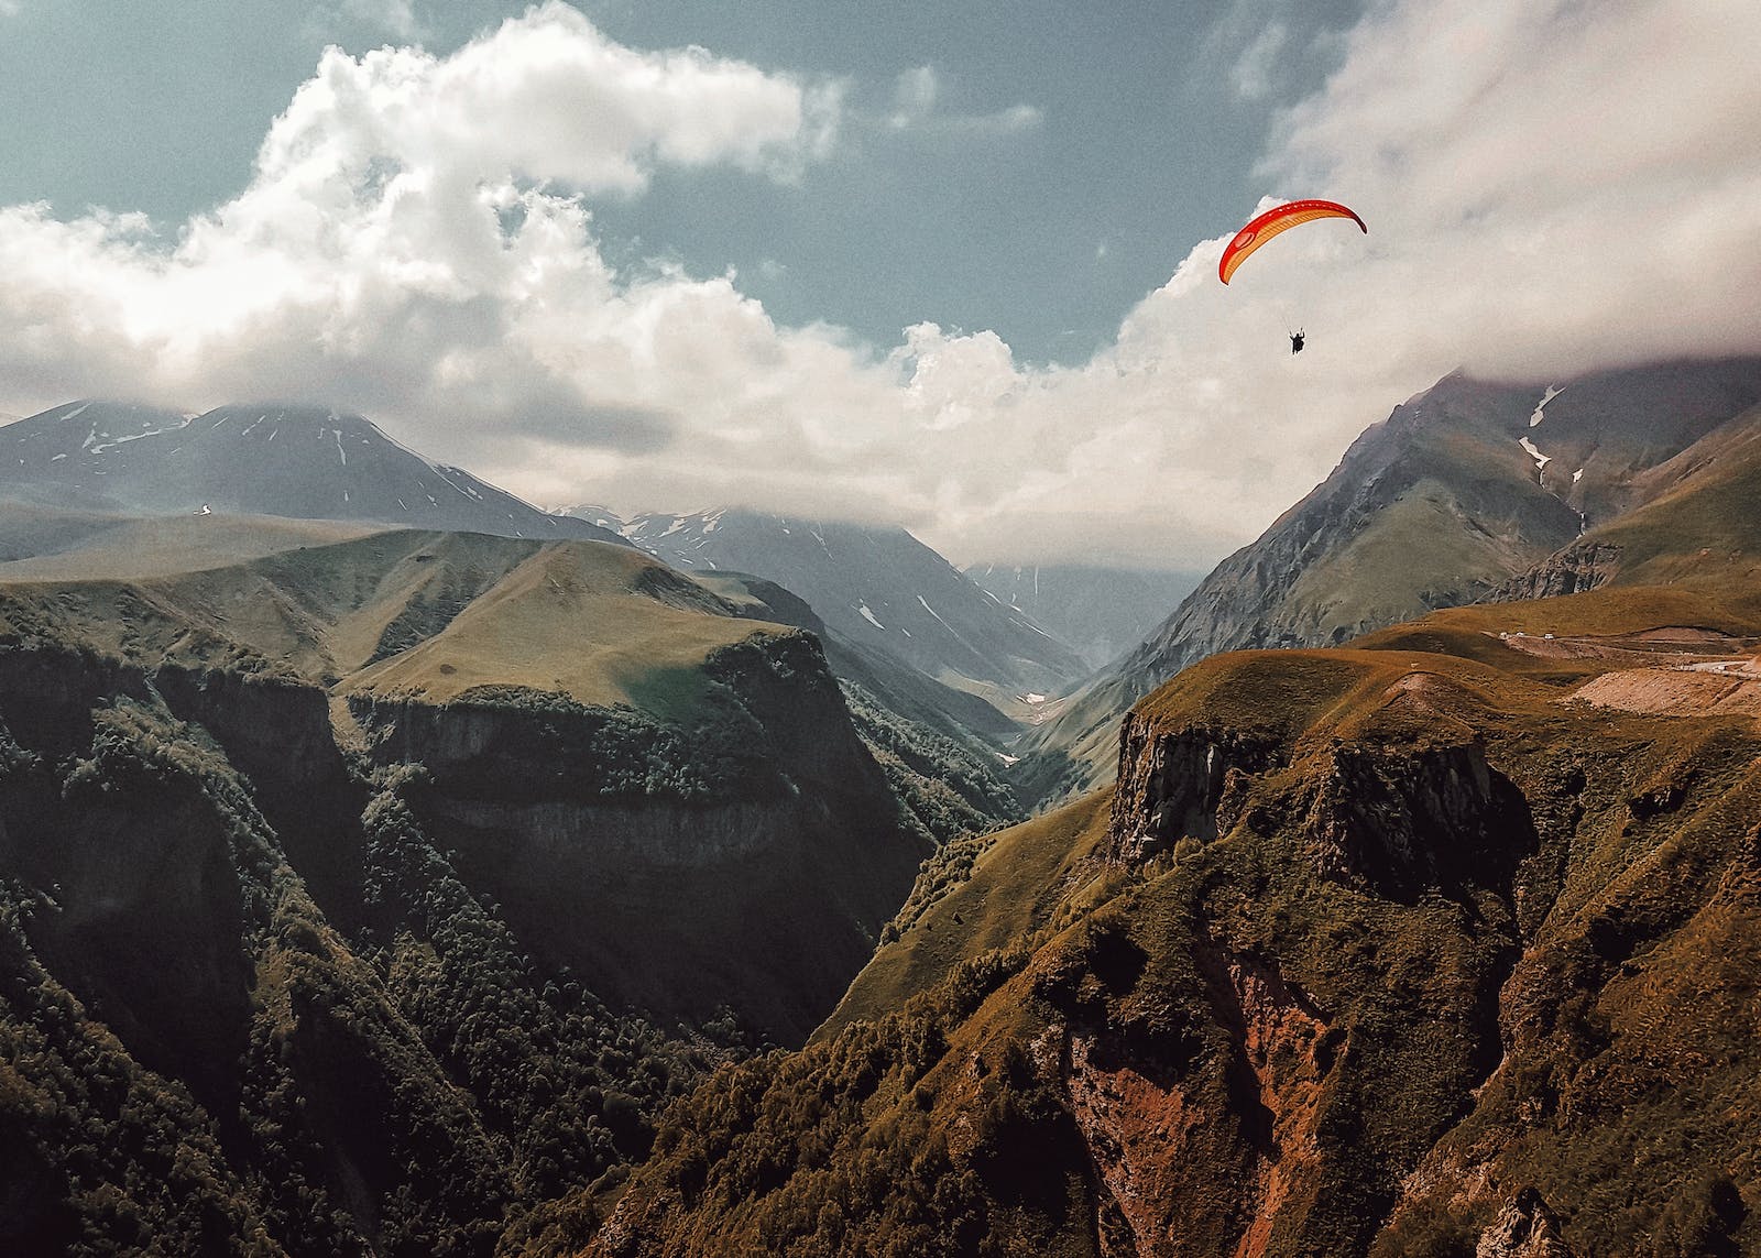
[[[298,395],[541,502],[1187,567],[1458,366],[1761,349],[1754,46],[1749,0],[0,0],[0,412]],[[1370,234],[1219,285],[1296,196]]]

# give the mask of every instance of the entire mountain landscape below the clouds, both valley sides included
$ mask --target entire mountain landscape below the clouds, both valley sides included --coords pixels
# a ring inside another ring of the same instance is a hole
[[[1757,403],[1439,381],[1074,698],[903,530],[0,428],[0,1247],[1752,1253]]]

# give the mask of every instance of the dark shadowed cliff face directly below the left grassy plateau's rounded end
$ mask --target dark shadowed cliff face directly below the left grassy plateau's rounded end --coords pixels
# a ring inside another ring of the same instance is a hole
[[[801,1040],[928,849],[812,638],[759,636],[704,675],[690,726],[505,687],[357,694],[350,714],[375,763],[421,766],[421,825],[551,962],[659,1013],[733,1006]]]

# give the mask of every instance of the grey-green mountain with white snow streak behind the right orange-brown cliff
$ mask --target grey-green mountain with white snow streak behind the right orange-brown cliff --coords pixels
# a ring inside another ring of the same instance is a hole
[[[1585,553],[1580,537],[1618,529],[1684,479],[1719,474],[1761,428],[1757,402],[1761,359],[1564,382],[1488,384],[1460,374],[1437,382],[1365,430],[1301,502],[1030,731],[1028,795],[1057,798],[1108,781],[1118,719],[1206,655],[1342,643],[1492,597],[1555,553]],[[1689,532],[1675,544],[1717,546],[1728,532],[1713,522],[1699,527],[1703,537]]]

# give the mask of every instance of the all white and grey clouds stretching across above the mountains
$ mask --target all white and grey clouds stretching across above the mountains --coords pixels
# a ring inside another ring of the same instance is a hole
[[[623,48],[553,2],[449,56],[331,49],[250,185],[174,234],[0,208],[0,409],[313,396],[535,500],[738,500],[905,522],[958,559],[1190,566],[1456,366],[1761,352],[1756,46],[1761,9],[1717,0],[1377,5],[1259,166],[1268,203],[1335,197],[1370,236],[1291,233],[1227,289],[1238,224],[1169,241],[1185,257],[1115,344],[1043,368],[990,331],[870,347],[778,326],[734,275],[613,266],[595,199],[662,167],[812,180],[844,86]],[[1231,86],[1264,90],[1277,51]],[[900,127],[935,104],[933,70],[900,76]],[[974,141],[1034,125],[1021,109]]]

